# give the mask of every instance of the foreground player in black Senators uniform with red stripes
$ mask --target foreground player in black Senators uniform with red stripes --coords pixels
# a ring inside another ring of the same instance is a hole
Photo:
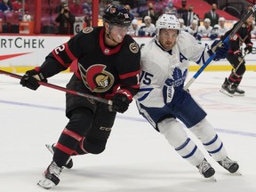
[[[116,112],[124,113],[138,92],[140,48],[126,35],[131,21],[123,6],[109,5],[103,15],[103,27],[84,28],[49,53],[41,67],[27,71],[20,80],[23,86],[36,90],[38,80],[46,81],[77,59],[77,70],[67,88],[113,102],[109,110],[107,104],[67,93],[69,122],[52,146],[52,163],[38,182],[42,188],[58,185],[63,167],[73,165],[70,156],[103,152]]]

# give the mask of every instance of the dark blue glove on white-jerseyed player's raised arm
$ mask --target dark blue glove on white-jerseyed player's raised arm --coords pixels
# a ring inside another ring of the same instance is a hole
[[[215,40],[212,45],[212,49],[208,51],[210,55],[213,53],[216,53],[216,56],[213,60],[221,60],[225,59],[228,54],[228,49],[229,49],[229,44],[228,43],[223,43],[221,40]]]

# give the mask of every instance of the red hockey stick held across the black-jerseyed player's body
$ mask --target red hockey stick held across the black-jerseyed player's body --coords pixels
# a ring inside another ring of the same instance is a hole
[[[21,77],[22,77],[22,76],[19,76],[17,74],[13,74],[13,73],[1,70],[1,69],[0,69],[0,74],[4,74],[6,76],[12,76],[12,77],[18,78],[18,79],[21,79]],[[82,97],[87,98],[87,99],[97,100],[101,103],[105,103],[105,104],[108,104],[109,106],[112,106],[112,100],[106,100],[106,99],[103,99],[103,98],[95,97],[95,96],[92,96],[90,94],[85,94],[84,92],[76,92],[76,91],[68,90],[64,87],[61,87],[61,86],[58,86],[58,85],[55,85],[55,84],[48,84],[48,83],[45,83],[45,82],[42,82],[42,81],[38,81],[38,84],[46,86],[46,87],[50,87],[52,89],[56,89],[56,90],[59,90],[59,91],[62,91],[62,92],[68,92],[70,94],[74,94],[74,95],[77,95],[77,96],[82,96]]]

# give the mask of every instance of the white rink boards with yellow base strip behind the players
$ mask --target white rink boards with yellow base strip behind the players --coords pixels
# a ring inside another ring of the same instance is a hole
[[[68,41],[70,36],[0,36],[0,68],[9,72],[24,73],[30,68],[40,66],[49,52]],[[135,41],[142,47],[147,44],[152,37],[134,37]],[[212,44],[209,38],[203,38],[202,44]],[[256,44],[255,39],[252,43]],[[256,45],[252,49],[252,54],[246,56],[247,70],[256,70],[255,63]],[[191,62],[190,71],[197,71],[196,63]],[[68,68],[74,71],[75,65]],[[230,70],[228,60],[212,61],[205,68],[208,71]]]

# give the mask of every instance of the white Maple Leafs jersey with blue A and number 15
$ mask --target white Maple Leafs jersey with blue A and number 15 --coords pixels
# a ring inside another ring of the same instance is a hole
[[[164,107],[164,84],[168,82],[173,89],[183,88],[189,60],[203,64],[210,57],[209,49],[207,44],[199,44],[194,36],[184,31],[169,52],[164,51],[156,37],[152,39],[141,49],[140,91],[135,95],[137,102],[148,108]]]

